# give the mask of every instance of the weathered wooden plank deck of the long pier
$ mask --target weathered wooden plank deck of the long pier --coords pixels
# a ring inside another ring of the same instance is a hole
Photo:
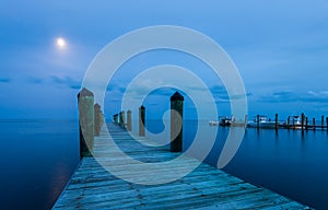
[[[168,147],[142,147],[125,129],[109,125],[116,143],[130,156],[143,162],[172,160]],[[104,132],[95,138],[95,152],[104,148]],[[147,141],[141,138],[141,141]],[[188,159],[188,162],[195,162]],[[117,159],[116,170],[125,162]],[[180,165],[184,167],[186,165]],[[172,168],[163,168],[171,172]],[[141,176],[131,173],[130,176]],[[156,177],[141,177],[156,178]],[[144,186],[119,179],[104,170],[94,158],[83,158],[54,209],[309,209],[268,189],[245,183],[207,164],[169,184]]]

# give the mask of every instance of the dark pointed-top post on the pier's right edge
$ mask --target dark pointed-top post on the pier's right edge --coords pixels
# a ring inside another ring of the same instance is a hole
[[[171,152],[183,151],[184,96],[175,92],[171,96]]]

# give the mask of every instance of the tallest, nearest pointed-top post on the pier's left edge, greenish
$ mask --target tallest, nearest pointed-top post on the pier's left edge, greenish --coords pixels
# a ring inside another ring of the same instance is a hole
[[[94,141],[94,95],[83,88],[78,94],[80,158],[90,156]]]

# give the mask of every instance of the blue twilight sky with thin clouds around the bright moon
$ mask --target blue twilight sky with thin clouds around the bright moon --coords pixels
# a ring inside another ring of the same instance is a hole
[[[326,0],[2,0],[0,118],[77,118],[77,93],[96,54],[125,33],[163,24],[197,30],[225,49],[244,80],[250,116],[328,115],[327,11]],[[66,39],[65,49],[56,45],[58,37]],[[202,63],[157,51],[120,69],[108,86],[106,116],[119,110],[129,69],[164,63],[197,67],[194,72],[212,90],[219,113],[230,115],[222,83]],[[171,93],[159,90],[145,103],[164,110]],[[150,115],[155,118],[156,112]]]

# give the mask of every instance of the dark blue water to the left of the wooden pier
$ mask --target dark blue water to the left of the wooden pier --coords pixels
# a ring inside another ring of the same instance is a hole
[[[78,121],[0,121],[0,209],[50,209],[79,162]]]

